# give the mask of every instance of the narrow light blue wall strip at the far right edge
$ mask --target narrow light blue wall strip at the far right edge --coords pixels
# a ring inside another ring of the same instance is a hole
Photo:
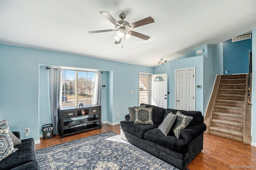
[[[256,146],[256,28],[252,30],[252,142]]]

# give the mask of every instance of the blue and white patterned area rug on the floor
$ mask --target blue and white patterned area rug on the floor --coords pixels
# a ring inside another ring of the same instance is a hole
[[[36,150],[36,158],[42,170],[179,170],[111,131]]]

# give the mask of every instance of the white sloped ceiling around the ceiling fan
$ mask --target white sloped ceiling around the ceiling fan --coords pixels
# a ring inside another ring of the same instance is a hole
[[[99,12],[129,23],[151,16],[154,23],[134,28],[150,36],[114,44],[116,32]],[[0,43],[60,51],[155,67],[256,28],[256,1],[205,0],[0,0]]]

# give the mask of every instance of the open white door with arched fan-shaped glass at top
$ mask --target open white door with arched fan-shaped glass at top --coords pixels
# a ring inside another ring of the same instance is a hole
[[[167,74],[151,75],[151,105],[167,108]]]

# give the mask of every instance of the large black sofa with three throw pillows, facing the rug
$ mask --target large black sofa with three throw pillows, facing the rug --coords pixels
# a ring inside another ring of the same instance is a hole
[[[146,105],[146,108],[148,107],[153,107],[152,120],[154,125],[134,124],[129,121],[130,116],[126,115],[125,121],[120,122],[122,139],[177,168],[185,169],[203,149],[203,136],[206,125],[204,124],[202,113]],[[174,136],[174,133],[171,132],[172,130],[165,136],[158,129],[158,126],[168,113],[176,114],[177,111],[184,115],[192,116],[193,119],[188,127],[181,131],[179,138]]]

